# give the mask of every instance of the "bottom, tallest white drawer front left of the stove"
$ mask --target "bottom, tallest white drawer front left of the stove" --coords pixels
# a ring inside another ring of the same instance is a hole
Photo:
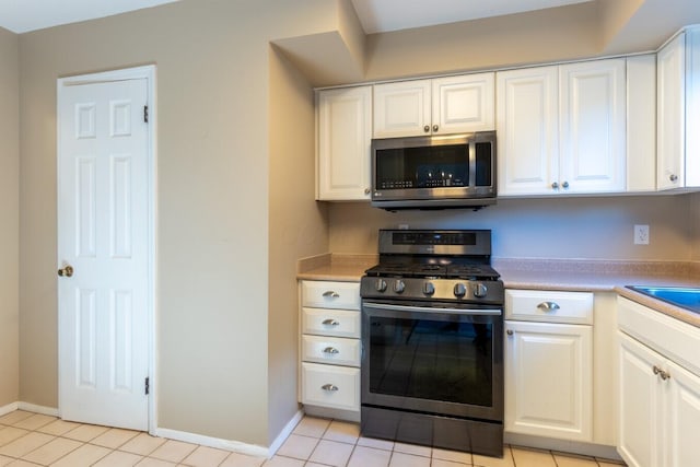
[[[302,363],[302,402],[360,410],[360,369]]]

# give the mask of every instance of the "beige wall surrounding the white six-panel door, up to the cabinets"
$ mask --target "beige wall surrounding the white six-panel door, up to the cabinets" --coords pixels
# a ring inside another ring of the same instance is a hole
[[[184,0],[20,36],[21,400],[57,407],[56,80],[155,63],[159,425],[259,445],[279,433],[268,406],[273,400],[283,416],[296,410],[296,329],[285,327],[268,346],[268,314],[296,314],[294,261],[324,253],[327,240],[324,233],[289,242],[287,224],[270,222],[280,207],[270,153],[300,157],[291,170],[312,174],[313,118],[311,86],[284,84],[279,95],[306,107],[292,127],[304,139],[291,152],[272,148],[270,86],[289,71],[276,71],[272,83],[269,44],[337,27],[337,7]],[[310,176],[300,182],[313,186]],[[311,191],[281,205],[307,212],[304,229],[325,231]],[[272,262],[269,247],[278,240],[294,246]],[[273,311],[272,266],[289,275]],[[268,365],[293,378],[271,388],[281,376]]]

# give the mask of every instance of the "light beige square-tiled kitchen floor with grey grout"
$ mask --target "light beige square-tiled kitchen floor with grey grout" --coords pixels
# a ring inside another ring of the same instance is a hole
[[[619,467],[506,446],[485,457],[360,436],[355,423],[305,417],[271,459],[16,410],[0,417],[0,467]]]

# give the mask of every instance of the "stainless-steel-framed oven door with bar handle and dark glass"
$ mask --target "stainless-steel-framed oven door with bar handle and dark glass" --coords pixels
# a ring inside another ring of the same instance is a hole
[[[362,406],[503,420],[503,313],[363,301]]]

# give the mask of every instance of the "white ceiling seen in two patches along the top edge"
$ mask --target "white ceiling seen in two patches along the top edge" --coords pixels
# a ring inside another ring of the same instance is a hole
[[[21,34],[178,0],[0,0],[0,26]],[[592,0],[352,0],[366,34],[477,20]]]

